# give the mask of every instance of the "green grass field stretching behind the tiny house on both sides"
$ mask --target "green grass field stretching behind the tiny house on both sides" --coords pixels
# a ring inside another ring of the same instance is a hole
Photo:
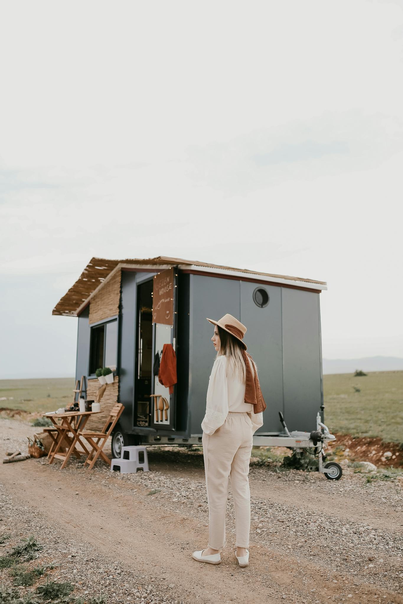
[[[54,411],[73,400],[74,384],[74,378],[0,380],[0,408]],[[323,389],[331,432],[403,442],[403,371],[325,375]]]

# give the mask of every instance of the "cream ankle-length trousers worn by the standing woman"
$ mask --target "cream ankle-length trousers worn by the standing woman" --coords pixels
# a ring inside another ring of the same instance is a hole
[[[207,547],[221,550],[225,539],[228,477],[234,498],[236,546],[249,547],[251,493],[249,462],[253,446],[253,424],[248,414],[230,411],[222,426],[202,436],[205,484],[208,501]]]

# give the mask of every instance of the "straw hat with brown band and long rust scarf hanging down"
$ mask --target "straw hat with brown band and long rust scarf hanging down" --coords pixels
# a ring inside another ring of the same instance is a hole
[[[260,390],[259,377],[257,377],[256,366],[254,364],[254,360],[251,355],[246,352],[247,345],[243,342],[243,336],[247,332],[247,328],[240,323],[233,315],[224,315],[218,321],[214,321],[213,319],[209,319],[206,317],[207,321],[213,323],[213,325],[218,325],[221,329],[224,329],[226,332],[231,333],[236,339],[240,341],[242,344],[242,355],[243,360],[245,361],[245,367],[247,369],[246,376],[246,386],[245,386],[245,403],[252,403],[254,413],[261,413],[266,409],[266,402],[263,399],[262,390]],[[248,362],[248,358],[251,359],[253,364],[253,371],[251,370],[251,366]]]

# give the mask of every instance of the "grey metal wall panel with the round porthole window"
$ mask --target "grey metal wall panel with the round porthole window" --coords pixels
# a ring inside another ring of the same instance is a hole
[[[269,303],[263,308],[253,301],[256,288],[265,289],[269,295]],[[267,405],[263,412],[263,426],[256,434],[277,433],[283,429],[279,420],[279,411],[283,411],[281,289],[240,281],[240,322],[247,327],[245,344],[256,362],[260,388]]]

